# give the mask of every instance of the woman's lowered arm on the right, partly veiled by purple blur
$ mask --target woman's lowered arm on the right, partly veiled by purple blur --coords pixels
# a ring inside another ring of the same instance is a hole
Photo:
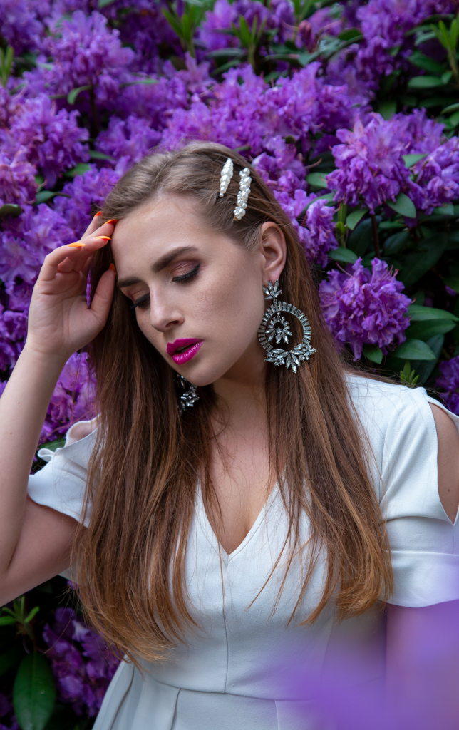
[[[438,436],[441,504],[454,521],[459,506],[459,435],[431,404]],[[459,575],[458,575],[459,583]],[[387,699],[396,728],[459,727],[459,601],[423,608],[387,606]]]

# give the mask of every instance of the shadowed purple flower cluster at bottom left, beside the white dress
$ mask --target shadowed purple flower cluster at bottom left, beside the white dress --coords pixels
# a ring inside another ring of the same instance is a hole
[[[94,717],[101,707],[120,658],[98,634],[88,629],[71,608],[58,608],[53,628],[45,626],[47,657],[61,702],[72,704],[77,715]]]

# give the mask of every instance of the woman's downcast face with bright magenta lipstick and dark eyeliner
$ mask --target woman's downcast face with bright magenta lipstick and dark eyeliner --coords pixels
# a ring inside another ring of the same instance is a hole
[[[263,369],[262,286],[279,277],[285,252],[276,253],[275,242],[274,250],[249,252],[195,211],[193,199],[168,196],[120,220],[112,236],[117,286],[144,336],[190,383],[231,372],[250,380]]]

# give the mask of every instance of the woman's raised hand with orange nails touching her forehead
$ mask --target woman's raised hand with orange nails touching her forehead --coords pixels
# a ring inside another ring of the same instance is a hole
[[[102,274],[90,307],[86,284],[93,253],[107,245],[113,228],[114,223],[98,227],[95,217],[80,242],[47,255],[32,293],[28,350],[65,363],[104,327],[113,299],[115,271]]]

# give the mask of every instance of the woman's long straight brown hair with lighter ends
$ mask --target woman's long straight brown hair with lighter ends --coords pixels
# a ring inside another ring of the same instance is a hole
[[[227,157],[234,161],[234,177],[219,198],[220,171]],[[297,374],[266,366],[271,469],[290,518],[287,569],[301,548],[297,542],[302,512],[312,529],[309,569],[303,584],[298,582],[292,618],[323,549],[328,560],[325,585],[307,623],[315,621],[332,598],[336,616],[342,619],[369,610],[392,588],[385,529],[369,478],[369,451],[304,249],[255,169],[250,168],[246,215],[234,222],[239,171],[245,166],[240,155],[207,143],[149,155],[115,185],[101,222],[120,220],[155,196],[174,194],[193,196],[207,224],[234,239],[235,245],[257,245],[260,226],[269,220],[284,231],[282,299],[306,313],[317,350]],[[93,291],[111,261],[109,246],[94,258]],[[299,341],[300,332],[295,334]],[[75,543],[80,596],[89,621],[121,653],[135,663],[138,658],[157,660],[193,629],[185,551],[198,475],[205,477],[204,501],[212,504],[215,496],[209,444],[218,404],[212,385],[199,388],[198,404],[180,416],[173,372],[139,330],[120,291],[115,291],[107,325],[90,354],[101,415],[88,471],[86,504],[92,515]]]

